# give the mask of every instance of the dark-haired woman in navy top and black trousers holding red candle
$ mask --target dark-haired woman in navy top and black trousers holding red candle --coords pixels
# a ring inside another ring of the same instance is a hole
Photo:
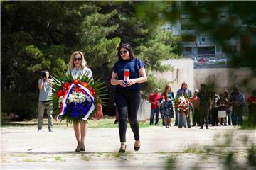
[[[120,153],[124,153],[126,145],[127,118],[134,133],[134,150],[139,150],[139,123],[137,113],[141,100],[140,84],[147,81],[144,63],[134,56],[131,45],[119,45],[118,61],[114,64],[111,84],[115,86],[114,101],[119,113]]]

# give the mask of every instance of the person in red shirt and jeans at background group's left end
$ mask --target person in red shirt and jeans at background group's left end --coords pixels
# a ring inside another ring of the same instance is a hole
[[[151,113],[150,113],[150,125],[154,124],[154,115],[156,113],[156,122],[155,125],[158,125],[159,122],[159,99],[161,98],[159,89],[156,89],[154,94],[149,96],[149,102],[151,103]]]

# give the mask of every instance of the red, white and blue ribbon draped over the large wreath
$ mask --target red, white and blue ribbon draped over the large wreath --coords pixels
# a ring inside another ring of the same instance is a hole
[[[94,97],[92,96],[92,94],[90,94],[90,91],[89,91],[87,88],[85,88],[84,86],[82,86],[82,84],[79,84],[79,83],[74,84],[74,83],[73,83],[73,84],[70,84],[70,87],[68,88],[67,93],[65,93],[65,95],[63,96],[63,101],[62,101],[61,107],[60,107],[60,114],[57,115],[56,121],[58,120],[58,117],[59,117],[60,115],[64,115],[64,114],[65,114],[65,111],[66,111],[66,108],[67,108],[67,99],[68,99],[68,96],[69,96],[69,94],[72,92],[72,89],[73,89],[73,87],[74,87],[75,85],[79,86],[82,90],[84,90],[85,93],[90,96],[90,99],[91,99],[91,102],[92,102],[92,105],[90,106],[89,111],[87,112],[87,114],[85,115],[85,117],[82,118],[82,120],[87,120],[87,118],[89,118],[89,116],[90,116],[90,114],[92,113],[92,111],[95,110],[95,106],[94,106]]]

